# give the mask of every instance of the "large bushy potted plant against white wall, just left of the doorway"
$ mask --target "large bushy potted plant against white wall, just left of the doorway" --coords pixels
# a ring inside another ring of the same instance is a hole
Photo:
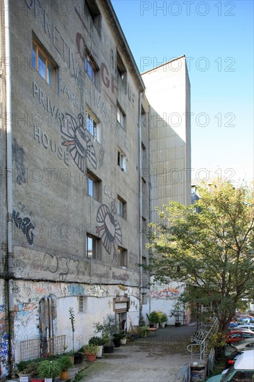
[[[101,333],[104,338],[107,338],[107,342],[103,344],[104,353],[113,353],[113,335],[119,331],[118,325],[115,322],[115,318],[107,315],[106,319],[103,318],[103,324],[96,322],[94,324],[94,328],[94,333]]]

